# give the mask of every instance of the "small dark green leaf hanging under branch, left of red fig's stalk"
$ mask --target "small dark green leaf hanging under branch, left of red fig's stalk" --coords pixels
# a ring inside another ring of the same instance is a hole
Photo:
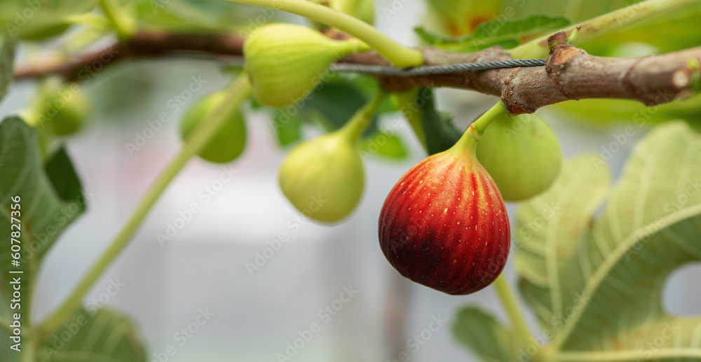
[[[426,135],[426,151],[429,155],[433,155],[451,148],[460,139],[463,132],[453,125],[452,118],[448,113],[436,111],[432,90],[419,90],[418,97],[426,95],[427,92],[430,92],[431,96],[424,96],[422,102],[415,102],[415,104],[419,108],[421,126]]]

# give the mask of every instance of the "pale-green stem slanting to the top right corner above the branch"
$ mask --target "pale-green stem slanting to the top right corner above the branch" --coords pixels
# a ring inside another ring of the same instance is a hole
[[[667,11],[681,8],[695,3],[697,0],[647,0],[635,3],[625,8],[620,8],[611,13],[599,15],[597,18],[585,20],[563,29],[567,34],[571,34],[577,27],[581,27],[578,32],[578,43],[596,39],[598,36],[615,32],[623,27],[633,25],[642,20],[652,18],[655,15],[666,13]],[[516,48],[507,50],[514,59],[530,59],[546,57],[548,54],[547,38],[551,34],[533,39],[523,43]]]

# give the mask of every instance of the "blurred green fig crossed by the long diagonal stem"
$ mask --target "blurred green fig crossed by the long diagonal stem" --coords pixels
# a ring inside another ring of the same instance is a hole
[[[186,112],[180,123],[180,135],[186,139],[212,111],[224,102],[226,92],[213,92],[199,99]],[[246,144],[246,126],[243,116],[238,109],[230,109],[222,115],[226,117],[224,124],[210,139],[205,148],[198,155],[210,162],[225,163],[238,157]]]

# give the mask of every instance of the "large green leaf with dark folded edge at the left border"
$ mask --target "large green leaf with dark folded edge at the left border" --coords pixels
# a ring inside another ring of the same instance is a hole
[[[32,290],[34,273],[39,270],[43,256],[61,232],[81,215],[85,198],[66,153],[62,150],[55,153],[45,169],[39,136],[20,118],[6,118],[0,123],[0,174],[0,237],[20,247],[18,259],[13,258],[15,251],[11,251],[10,245],[0,251],[0,300],[8,301],[12,299],[13,288],[9,283],[14,277],[21,278],[22,296]],[[11,225],[18,224],[21,229],[16,237],[11,234],[16,227]],[[13,262],[18,265],[13,266]],[[22,273],[11,274],[18,270]],[[20,323],[26,327],[29,325],[26,307],[22,304],[20,309],[11,309],[7,302],[0,302],[0,320],[13,321],[13,314],[19,313]],[[6,341],[9,340],[7,326],[8,323],[2,323],[0,327],[0,338]],[[17,355],[9,348],[0,349],[0,361],[14,361]]]

